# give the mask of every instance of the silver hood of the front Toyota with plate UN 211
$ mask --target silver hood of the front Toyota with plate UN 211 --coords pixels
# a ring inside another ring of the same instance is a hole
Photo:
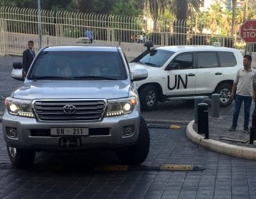
[[[12,97],[19,99],[114,99],[129,95],[129,81],[28,81]]]

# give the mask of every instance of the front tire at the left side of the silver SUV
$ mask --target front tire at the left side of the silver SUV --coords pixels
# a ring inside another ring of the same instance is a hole
[[[6,147],[10,161],[16,168],[29,168],[35,161],[36,151]]]

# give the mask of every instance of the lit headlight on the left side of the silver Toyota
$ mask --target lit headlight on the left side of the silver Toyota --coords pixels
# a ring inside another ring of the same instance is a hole
[[[31,109],[31,100],[7,97],[4,103],[9,114],[14,114],[21,117],[34,117]]]

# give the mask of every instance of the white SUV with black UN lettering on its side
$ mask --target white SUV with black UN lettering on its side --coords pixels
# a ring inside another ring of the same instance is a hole
[[[151,48],[129,63],[146,68],[148,77],[137,82],[143,110],[149,111],[166,99],[193,99],[220,95],[220,106],[231,102],[230,92],[238,68],[242,67],[240,50],[216,46],[164,46]]]

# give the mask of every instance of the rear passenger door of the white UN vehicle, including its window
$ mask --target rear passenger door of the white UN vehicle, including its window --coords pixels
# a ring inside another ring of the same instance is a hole
[[[223,80],[223,68],[220,68],[217,51],[196,53],[196,95],[210,94],[218,82]]]

